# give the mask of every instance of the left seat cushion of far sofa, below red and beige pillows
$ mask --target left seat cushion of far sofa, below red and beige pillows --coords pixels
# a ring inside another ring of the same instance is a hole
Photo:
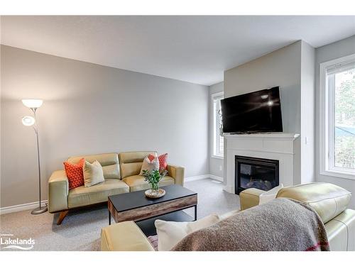
[[[107,201],[108,196],[126,192],[129,192],[129,186],[119,179],[106,179],[92,187],[76,187],[68,194],[68,208],[97,204]]]

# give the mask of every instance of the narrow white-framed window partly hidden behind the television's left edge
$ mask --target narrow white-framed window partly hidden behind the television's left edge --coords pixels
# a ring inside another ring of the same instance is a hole
[[[212,94],[212,157],[223,157],[224,138],[222,136],[221,100],[223,92]]]

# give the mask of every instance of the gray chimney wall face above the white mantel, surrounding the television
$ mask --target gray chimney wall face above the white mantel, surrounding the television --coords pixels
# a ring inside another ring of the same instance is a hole
[[[224,97],[280,86],[283,131],[300,133],[301,44],[297,41],[224,72]]]

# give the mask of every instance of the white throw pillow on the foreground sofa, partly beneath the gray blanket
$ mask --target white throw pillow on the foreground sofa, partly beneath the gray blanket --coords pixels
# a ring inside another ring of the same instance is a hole
[[[218,223],[219,216],[211,214],[193,222],[174,222],[155,220],[155,228],[158,234],[158,250],[168,251],[185,238],[186,235]]]

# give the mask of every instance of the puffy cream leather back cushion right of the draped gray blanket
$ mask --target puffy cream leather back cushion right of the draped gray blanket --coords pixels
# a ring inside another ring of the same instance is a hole
[[[310,205],[323,223],[327,223],[346,209],[351,193],[335,184],[319,182],[285,187],[280,189],[276,197],[295,199]]]

